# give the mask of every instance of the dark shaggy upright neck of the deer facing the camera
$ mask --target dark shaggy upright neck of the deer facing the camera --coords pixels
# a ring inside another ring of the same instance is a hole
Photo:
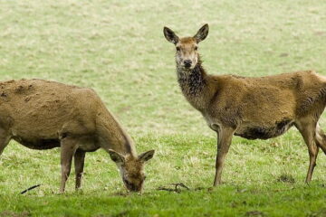
[[[177,81],[183,95],[189,103],[198,110],[204,110],[207,100],[207,75],[198,58],[197,65],[187,70],[177,65]]]

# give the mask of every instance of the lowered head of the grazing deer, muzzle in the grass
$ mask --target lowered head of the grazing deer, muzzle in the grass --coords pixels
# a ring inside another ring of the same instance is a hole
[[[154,156],[154,150],[144,152],[137,157],[131,155],[123,156],[111,149],[109,154],[112,161],[118,165],[126,188],[131,192],[141,192],[146,179],[144,163]]]

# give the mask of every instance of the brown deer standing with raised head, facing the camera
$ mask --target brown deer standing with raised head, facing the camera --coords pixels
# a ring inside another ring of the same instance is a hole
[[[225,156],[234,135],[268,139],[282,135],[292,126],[299,129],[308,146],[309,183],[319,147],[326,154],[326,135],[318,125],[326,106],[326,77],[314,71],[259,78],[209,75],[197,50],[198,43],[208,34],[207,24],[193,37],[179,38],[167,27],[163,32],[177,49],[177,81],[183,95],[217,133],[214,185],[221,184]]]

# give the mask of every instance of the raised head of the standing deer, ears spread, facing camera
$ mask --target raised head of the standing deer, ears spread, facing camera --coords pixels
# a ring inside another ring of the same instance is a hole
[[[179,38],[168,27],[164,27],[163,33],[168,42],[176,45],[177,67],[183,70],[194,69],[198,62],[198,43],[206,39],[208,24],[203,25],[193,37]]]

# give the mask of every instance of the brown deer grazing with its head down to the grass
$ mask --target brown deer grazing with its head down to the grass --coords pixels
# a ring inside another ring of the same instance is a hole
[[[0,155],[10,139],[32,149],[61,147],[62,182],[72,167],[81,188],[86,152],[103,148],[120,169],[129,191],[141,192],[143,165],[154,150],[139,156],[129,135],[94,90],[47,80],[0,82]]]

